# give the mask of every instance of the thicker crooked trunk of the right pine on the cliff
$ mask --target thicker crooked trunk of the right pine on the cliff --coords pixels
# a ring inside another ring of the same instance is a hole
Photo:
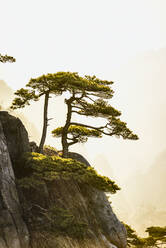
[[[71,103],[73,101],[73,98],[70,98],[69,100],[66,100],[67,103],[67,118],[66,118],[66,124],[63,127],[63,131],[62,131],[62,157],[63,158],[67,158],[68,155],[68,148],[69,145],[67,143],[67,132],[70,126],[70,122],[71,122],[71,115],[72,115],[72,106]]]

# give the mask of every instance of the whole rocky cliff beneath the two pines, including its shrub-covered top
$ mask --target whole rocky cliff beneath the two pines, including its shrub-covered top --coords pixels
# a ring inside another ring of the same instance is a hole
[[[89,163],[29,151],[21,121],[0,111],[0,248],[125,248]]]

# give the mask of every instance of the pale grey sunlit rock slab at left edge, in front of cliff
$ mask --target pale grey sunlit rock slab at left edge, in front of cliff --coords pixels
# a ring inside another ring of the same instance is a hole
[[[28,248],[29,234],[22,219],[15,177],[0,122],[0,248]]]

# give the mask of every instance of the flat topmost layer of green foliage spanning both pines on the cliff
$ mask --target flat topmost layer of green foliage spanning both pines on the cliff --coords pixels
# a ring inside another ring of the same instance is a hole
[[[38,96],[43,95],[46,92],[60,95],[67,90],[70,92],[76,90],[77,93],[82,91],[102,91],[106,92],[107,95],[112,94],[112,91],[110,91],[110,88],[106,85],[106,83],[104,85],[104,83],[99,84],[97,81],[95,82],[95,80],[87,80],[86,78],[80,77],[76,72],[57,72],[42,75],[38,78],[30,79],[30,81],[26,84],[26,87],[28,88],[30,95],[31,92],[35,92]],[[20,98],[25,98],[25,94],[21,90],[18,90],[15,94],[20,96]],[[29,100],[30,95],[28,96],[27,94]],[[33,95],[31,99],[34,100]]]

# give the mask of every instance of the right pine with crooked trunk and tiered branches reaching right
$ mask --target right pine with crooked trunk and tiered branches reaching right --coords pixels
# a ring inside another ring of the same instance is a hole
[[[89,137],[108,136],[122,137],[123,139],[138,139],[127,128],[125,122],[119,119],[120,111],[113,108],[107,99],[112,98],[113,82],[101,80],[95,76],[80,77],[77,73],[66,73],[68,78],[65,91],[69,97],[65,99],[67,105],[67,118],[63,127],[52,131],[54,137],[61,137],[63,157],[68,156],[69,146],[78,142],[86,142]],[[87,123],[73,122],[73,114],[85,117],[101,117],[104,124],[89,125]]]

